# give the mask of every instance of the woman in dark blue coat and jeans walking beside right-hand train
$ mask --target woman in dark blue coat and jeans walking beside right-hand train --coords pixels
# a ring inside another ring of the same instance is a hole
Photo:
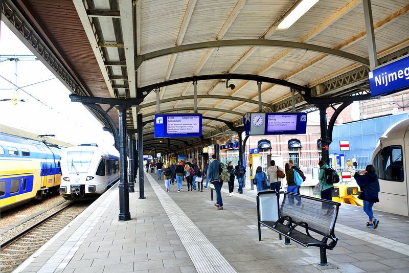
[[[372,207],[374,206],[374,203],[379,202],[378,194],[380,188],[374,166],[368,165],[365,168],[365,171],[355,172],[354,178],[365,195],[365,198],[363,199],[363,211],[369,216],[367,226],[376,229],[379,220],[374,217]]]

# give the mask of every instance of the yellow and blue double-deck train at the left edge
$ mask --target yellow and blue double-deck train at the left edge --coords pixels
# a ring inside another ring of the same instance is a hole
[[[63,149],[0,132],[0,211],[58,193]]]

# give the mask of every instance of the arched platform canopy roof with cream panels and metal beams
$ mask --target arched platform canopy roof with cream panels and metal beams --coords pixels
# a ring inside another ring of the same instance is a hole
[[[197,82],[203,137],[172,140],[172,149],[239,130],[244,113],[259,111],[258,82],[262,111],[369,96],[372,49],[373,66],[408,53],[409,3],[372,0],[368,43],[368,2],[320,0],[285,30],[279,24],[300,1],[4,0],[2,20],[73,94],[127,99],[127,128],[142,113],[146,151],[166,152],[152,140],[156,92],[160,112],[193,113]],[[87,107],[112,130],[117,102]]]

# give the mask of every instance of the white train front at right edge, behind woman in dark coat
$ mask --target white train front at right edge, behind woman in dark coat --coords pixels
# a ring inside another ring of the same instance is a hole
[[[371,160],[380,186],[374,209],[409,216],[409,119],[392,125],[379,140]]]

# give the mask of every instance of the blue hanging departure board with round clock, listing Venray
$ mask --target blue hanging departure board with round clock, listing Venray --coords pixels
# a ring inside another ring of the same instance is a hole
[[[307,130],[307,113],[246,113],[246,135],[302,134]]]

